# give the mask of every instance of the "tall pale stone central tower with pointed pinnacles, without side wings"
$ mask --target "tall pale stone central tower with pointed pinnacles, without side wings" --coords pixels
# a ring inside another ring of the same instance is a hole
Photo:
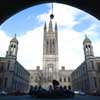
[[[53,30],[51,19],[49,29],[47,30],[46,23],[44,26],[43,70],[46,80],[58,79],[58,32],[57,24],[55,24],[55,30]]]

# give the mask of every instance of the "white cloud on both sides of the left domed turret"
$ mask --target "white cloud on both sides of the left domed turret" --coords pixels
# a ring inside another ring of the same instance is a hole
[[[17,37],[19,41],[17,60],[26,69],[35,69],[38,65],[42,67],[42,29],[43,27],[41,26],[35,30],[26,32],[23,36]],[[0,30],[0,56],[5,57],[12,38],[8,37],[5,31]]]

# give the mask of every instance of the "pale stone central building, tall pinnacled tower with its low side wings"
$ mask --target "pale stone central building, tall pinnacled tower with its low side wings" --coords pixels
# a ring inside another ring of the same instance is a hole
[[[62,86],[71,86],[71,72],[72,70],[65,70],[63,66],[59,70],[58,58],[58,29],[57,23],[53,28],[52,19],[50,19],[49,26],[44,25],[43,36],[43,68],[40,70],[39,66],[36,70],[29,70],[30,85],[42,85],[48,87],[52,84],[52,80],[58,80]]]

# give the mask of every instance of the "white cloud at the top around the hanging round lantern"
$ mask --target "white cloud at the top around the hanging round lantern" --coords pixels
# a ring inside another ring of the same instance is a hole
[[[49,5],[50,6],[50,5]],[[59,26],[67,26],[72,28],[74,25],[78,24],[75,21],[75,16],[80,13],[76,8],[70,7],[68,5],[54,3],[54,21],[57,21]],[[49,12],[40,14],[37,16],[37,19],[40,22],[49,22],[50,20],[51,9]]]

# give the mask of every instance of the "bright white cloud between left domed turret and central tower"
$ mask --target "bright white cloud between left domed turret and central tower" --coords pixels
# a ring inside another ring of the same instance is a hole
[[[43,48],[43,26],[26,32],[19,37],[18,60],[27,69],[35,69],[36,66],[42,67],[42,48]]]

